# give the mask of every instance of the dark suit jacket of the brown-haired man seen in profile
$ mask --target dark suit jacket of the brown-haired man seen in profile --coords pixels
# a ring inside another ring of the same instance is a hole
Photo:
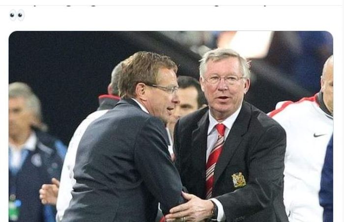
[[[182,203],[163,123],[132,100],[91,123],[78,147],[76,184],[63,222],[154,222]]]

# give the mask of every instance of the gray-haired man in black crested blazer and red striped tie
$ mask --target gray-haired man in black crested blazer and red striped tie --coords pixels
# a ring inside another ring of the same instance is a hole
[[[183,194],[189,201],[172,208],[167,222],[287,222],[286,134],[244,101],[249,77],[247,60],[231,49],[214,49],[201,59],[209,108],[176,123],[175,164],[190,194]]]

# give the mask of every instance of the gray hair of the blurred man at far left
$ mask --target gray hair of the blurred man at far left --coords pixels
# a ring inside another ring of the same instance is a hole
[[[37,120],[41,123],[39,127],[42,130],[46,130],[47,126],[42,123],[42,110],[41,102],[38,97],[32,92],[31,87],[24,82],[13,82],[8,85],[8,98],[24,98],[26,108],[28,108]]]

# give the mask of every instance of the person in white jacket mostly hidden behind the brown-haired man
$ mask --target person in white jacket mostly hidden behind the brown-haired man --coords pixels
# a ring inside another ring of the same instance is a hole
[[[118,96],[118,78],[122,72],[122,67],[128,59],[117,64],[111,74],[111,82],[108,85],[108,94],[99,96],[99,107],[97,111],[89,114],[86,119],[80,123],[78,128],[75,130],[74,135],[69,142],[67,154],[63,162],[63,168],[61,173],[61,182],[54,180],[52,184],[43,184],[39,190],[40,199],[43,204],[56,205],[57,215],[56,221],[62,220],[64,211],[69,205],[72,199],[71,191],[75,184],[73,178],[74,165],[76,159],[76,152],[79,146],[81,137],[84,135],[86,128],[94,120],[104,115],[108,110],[115,107],[120,97]]]

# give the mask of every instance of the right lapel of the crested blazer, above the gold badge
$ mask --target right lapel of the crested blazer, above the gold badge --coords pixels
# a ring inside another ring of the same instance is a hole
[[[214,171],[214,185],[219,179],[220,175],[226,169],[229,161],[231,160],[235,150],[239,148],[242,141],[242,136],[247,132],[248,124],[251,118],[251,109],[247,102],[243,102],[241,111],[233,123],[229,131],[228,137],[225,141],[219,160],[216,163]]]

